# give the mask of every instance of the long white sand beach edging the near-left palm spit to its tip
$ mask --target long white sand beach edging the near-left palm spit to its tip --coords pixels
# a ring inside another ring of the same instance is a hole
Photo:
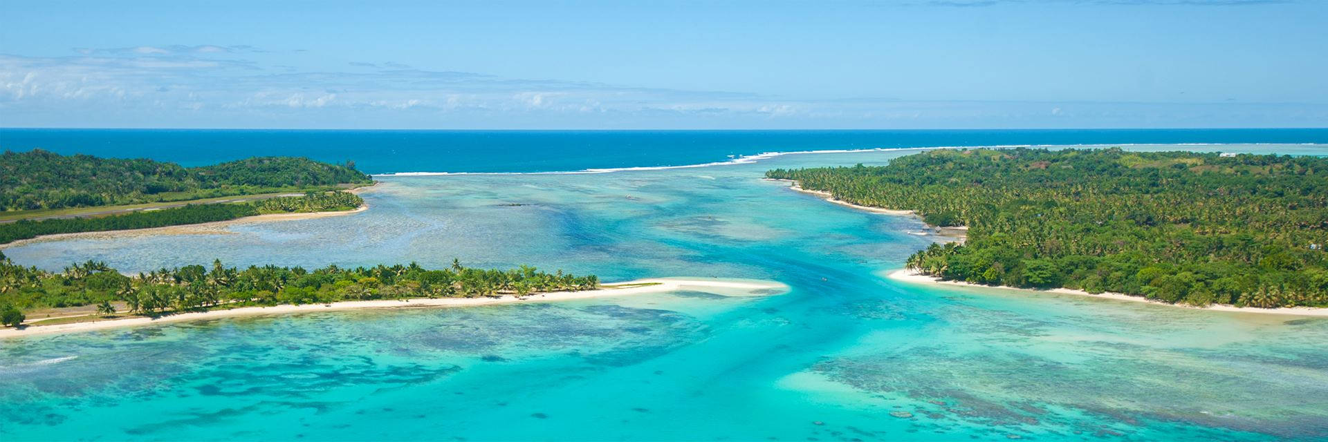
[[[637,285],[637,284],[649,284],[649,285]],[[604,285],[610,287],[592,291],[547,292],[547,293],[533,293],[526,296],[503,295],[498,297],[417,297],[417,299],[400,299],[400,300],[393,299],[393,300],[369,300],[369,301],[336,301],[329,304],[280,304],[271,307],[239,307],[231,309],[216,309],[206,312],[186,312],[177,315],[166,315],[159,317],[138,316],[138,317],[125,317],[125,319],[88,321],[88,323],[28,325],[21,329],[17,328],[0,329],[0,340],[11,337],[39,336],[39,334],[90,332],[90,331],[101,331],[101,329],[121,328],[121,327],[154,325],[154,324],[167,324],[167,323],[181,323],[181,321],[210,320],[220,317],[243,317],[243,316],[263,316],[263,315],[290,315],[290,313],[337,312],[337,311],[384,309],[384,308],[388,309],[445,308],[445,307],[475,307],[475,305],[494,305],[494,304],[511,304],[511,303],[546,303],[546,301],[566,301],[566,300],[610,297],[610,296],[665,293],[680,289],[706,291],[706,292],[713,292],[716,295],[734,296],[734,297],[782,295],[789,291],[789,285],[777,281],[695,279],[695,277],[693,279],[653,277],[653,279],[640,279],[640,280],[604,284]],[[632,287],[612,287],[612,285],[632,285]],[[778,292],[753,293],[753,291],[778,291]]]

